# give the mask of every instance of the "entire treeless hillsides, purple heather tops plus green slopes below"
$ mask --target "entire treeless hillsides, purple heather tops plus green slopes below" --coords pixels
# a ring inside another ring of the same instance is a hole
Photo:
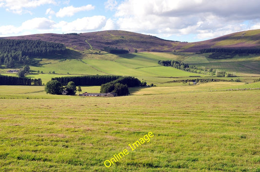
[[[63,43],[75,51],[69,54],[39,56],[30,64],[33,74],[31,78],[41,78],[43,83],[60,75],[125,75],[135,76],[140,80],[157,85],[168,85],[168,82],[182,80],[183,77],[203,76],[175,68],[158,65],[159,60],[178,60],[202,69],[222,69],[236,72],[238,76],[260,75],[260,56],[234,55],[228,59],[212,59],[208,54],[195,52],[207,48],[260,48],[260,30],[244,31],[224,35],[215,39],[187,43],[163,40],[155,36],[137,34],[126,31],[100,31],[82,34],[33,34],[2,39],[28,39]],[[130,50],[138,53],[110,54],[103,52],[104,47]],[[174,51],[176,50],[176,52]],[[19,68],[17,66],[16,68]],[[7,68],[1,67],[1,73]],[[38,73],[37,73],[38,71]],[[42,71],[43,74],[39,72]],[[55,74],[54,74],[55,71]],[[51,74],[52,73],[52,74]],[[171,79],[171,78],[179,79]],[[254,78],[249,81],[253,81]]]

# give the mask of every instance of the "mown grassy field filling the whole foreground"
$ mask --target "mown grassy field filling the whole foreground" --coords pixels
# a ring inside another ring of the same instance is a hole
[[[259,90],[0,99],[0,171],[260,171],[259,102]]]

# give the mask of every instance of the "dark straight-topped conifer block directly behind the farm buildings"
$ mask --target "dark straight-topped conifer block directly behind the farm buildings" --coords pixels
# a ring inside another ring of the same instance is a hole
[[[87,76],[65,76],[52,78],[57,80],[62,86],[66,86],[70,81],[74,82],[76,86],[101,86],[102,84],[119,79],[121,76],[111,75],[87,75]]]

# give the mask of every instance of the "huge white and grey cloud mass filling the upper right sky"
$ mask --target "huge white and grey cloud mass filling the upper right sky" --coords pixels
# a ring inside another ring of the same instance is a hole
[[[115,17],[120,30],[205,39],[246,29],[241,23],[259,18],[259,6],[258,0],[125,0]]]

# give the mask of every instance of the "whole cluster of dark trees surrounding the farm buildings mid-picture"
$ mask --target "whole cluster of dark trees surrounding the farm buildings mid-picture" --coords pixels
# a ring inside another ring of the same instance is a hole
[[[139,79],[128,76],[92,75],[52,78],[47,82],[45,91],[50,94],[75,95],[76,85],[101,86],[100,93],[115,92],[118,96],[129,95],[128,87],[143,86]],[[146,85],[146,83],[145,83]],[[65,86],[65,87],[62,87]],[[78,88],[81,91],[81,88]]]

